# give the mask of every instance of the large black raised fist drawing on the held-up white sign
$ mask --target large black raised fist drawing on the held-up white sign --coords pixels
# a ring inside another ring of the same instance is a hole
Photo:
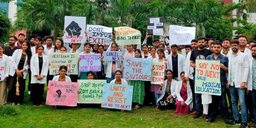
[[[66,27],[66,32],[68,33],[71,38],[76,35],[77,37],[81,34],[82,28],[75,22],[72,21],[67,27]]]

